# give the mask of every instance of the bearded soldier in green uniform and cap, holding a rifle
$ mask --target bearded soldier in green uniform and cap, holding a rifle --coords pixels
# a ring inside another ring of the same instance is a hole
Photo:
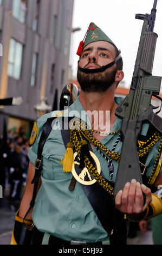
[[[18,223],[23,222],[35,225],[33,244],[100,246],[109,238],[112,244],[125,244],[127,221],[140,221],[162,212],[161,199],[154,196],[147,182],[127,182],[124,190],[116,194],[115,202],[112,200],[122,146],[121,119],[115,116],[122,100],[115,97],[115,89],[124,78],[118,48],[98,26],[90,23],[77,54],[79,98],[66,111],[44,115],[32,133],[27,188],[16,215],[12,243],[30,243],[17,231]],[[69,129],[65,129],[66,117]],[[51,125],[46,140],[43,136]],[[109,131],[105,129],[108,126]],[[140,141],[146,139],[148,130],[144,125]],[[151,177],[152,182],[154,177],[152,184],[157,186],[162,184],[157,158],[161,154],[160,137],[149,137],[147,144],[152,139],[155,145],[147,155],[145,179]],[[139,142],[137,147],[141,144],[145,142]],[[34,183],[38,185],[35,188]],[[38,191],[35,204],[33,190],[35,194]],[[26,233],[30,232],[28,227]]]

